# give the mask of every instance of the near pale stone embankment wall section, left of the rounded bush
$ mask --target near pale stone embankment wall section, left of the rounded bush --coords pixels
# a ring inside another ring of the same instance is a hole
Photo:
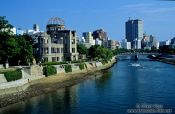
[[[24,91],[29,87],[29,82],[44,78],[42,67],[32,65],[21,68],[22,79],[7,82],[4,74],[0,74],[0,95],[6,95],[14,92]]]

